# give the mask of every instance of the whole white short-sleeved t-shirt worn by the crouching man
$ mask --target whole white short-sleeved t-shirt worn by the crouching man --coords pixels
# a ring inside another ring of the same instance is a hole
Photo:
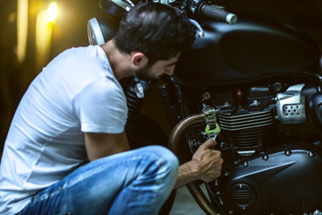
[[[30,84],[13,116],[0,165],[0,214],[87,161],[83,133],[122,133],[126,98],[99,46],[64,51]]]

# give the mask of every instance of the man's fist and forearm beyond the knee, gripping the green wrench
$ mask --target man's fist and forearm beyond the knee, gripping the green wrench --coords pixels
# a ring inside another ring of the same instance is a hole
[[[191,161],[179,167],[178,179],[174,188],[179,188],[195,180],[212,181],[220,176],[224,159],[220,150],[212,150],[216,142],[209,139],[199,146]]]

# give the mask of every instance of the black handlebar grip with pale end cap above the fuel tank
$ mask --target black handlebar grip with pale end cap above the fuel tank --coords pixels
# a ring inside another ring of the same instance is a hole
[[[237,22],[237,16],[234,13],[226,12],[225,10],[211,4],[201,4],[199,6],[199,13],[205,14],[208,17],[216,20],[224,21],[229,24]]]

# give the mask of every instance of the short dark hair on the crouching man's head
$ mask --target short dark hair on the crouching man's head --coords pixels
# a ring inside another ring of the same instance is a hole
[[[195,31],[189,19],[174,8],[165,4],[141,3],[124,15],[114,42],[123,53],[142,52],[152,65],[191,47]]]

